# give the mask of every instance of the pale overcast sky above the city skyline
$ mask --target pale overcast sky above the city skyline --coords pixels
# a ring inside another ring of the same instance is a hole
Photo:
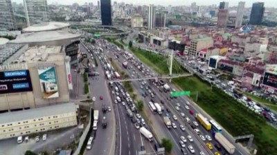
[[[22,3],[23,0],[12,0],[17,3]],[[59,4],[66,4],[66,5],[71,5],[72,3],[79,3],[80,5],[84,4],[85,2],[90,3],[93,2],[94,5],[97,5],[98,0],[48,0],[48,4],[52,4],[55,2],[58,2]],[[220,1],[223,0],[141,0],[141,1],[134,1],[134,0],[118,0],[117,2],[125,2],[125,3],[134,3],[134,4],[139,4],[139,5],[148,5],[150,3],[153,4],[159,4],[163,6],[190,6],[191,3],[196,2],[197,6],[208,6],[211,4],[217,4],[217,6],[220,5]],[[229,6],[238,6],[238,2],[242,0],[229,0]],[[277,0],[244,0],[246,1],[245,6],[246,7],[251,7],[252,3],[255,3],[257,1],[260,2],[265,2],[265,7],[275,7],[277,8]],[[114,3],[113,0],[111,0],[111,3]],[[176,4],[176,5],[175,5]]]

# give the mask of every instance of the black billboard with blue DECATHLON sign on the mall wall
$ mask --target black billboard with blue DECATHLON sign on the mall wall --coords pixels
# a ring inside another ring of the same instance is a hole
[[[28,70],[0,72],[0,94],[33,91]]]

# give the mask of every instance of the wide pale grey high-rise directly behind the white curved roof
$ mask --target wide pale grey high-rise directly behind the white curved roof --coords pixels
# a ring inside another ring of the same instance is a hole
[[[24,0],[27,26],[48,21],[46,0]]]

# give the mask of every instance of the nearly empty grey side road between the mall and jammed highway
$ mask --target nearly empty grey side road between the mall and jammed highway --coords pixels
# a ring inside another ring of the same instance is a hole
[[[86,48],[84,48],[82,43],[80,43],[80,51],[86,52],[89,55],[89,52]],[[100,64],[100,62],[98,62],[98,64]],[[96,101],[93,103],[93,108],[94,110],[99,110],[98,130],[96,131],[96,137],[91,150],[87,150],[85,154],[114,155],[116,141],[115,113],[112,108],[111,96],[109,95],[105,74],[100,65],[98,65],[98,68],[96,68],[96,72],[99,72],[100,75],[97,77],[97,79],[92,79],[89,77],[89,88],[91,91],[91,97],[96,97]],[[100,100],[100,96],[103,96],[103,100]],[[103,114],[102,103],[105,103],[106,106],[110,106],[112,108],[111,112],[106,112],[106,114]],[[101,126],[103,116],[106,116],[107,119],[106,129],[102,129]]]

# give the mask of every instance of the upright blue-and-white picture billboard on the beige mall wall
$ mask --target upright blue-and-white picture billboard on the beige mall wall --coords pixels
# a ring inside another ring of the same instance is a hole
[[[39,83],[42,88],[42,97],[51,99],[59,97],[55,67],[38,68]]]

